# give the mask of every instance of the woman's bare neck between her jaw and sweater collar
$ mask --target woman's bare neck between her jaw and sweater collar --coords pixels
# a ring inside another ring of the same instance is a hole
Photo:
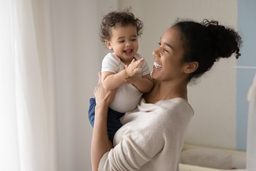
[[[187,84],[173,82],[154,81],[154,87],[151,92],[144,94],[147,103],[156,103],[160,100],[169,100],[173,98],[183,98],[187,100]]]

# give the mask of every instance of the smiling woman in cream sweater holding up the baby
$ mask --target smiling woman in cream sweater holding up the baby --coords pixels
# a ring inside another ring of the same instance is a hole
[[[94,91],[93,170],[179,170],[184,135],[194,115],[187,102],[187,84],[219,58],[233,53],[238,58],[240,43],[237,32],[216,21],[182,21],[168,28],[153,52],[154,87],[137,109],[121,118],[114,147],[108,140],[106,118],[115,91],[104,90],[99,79]]]

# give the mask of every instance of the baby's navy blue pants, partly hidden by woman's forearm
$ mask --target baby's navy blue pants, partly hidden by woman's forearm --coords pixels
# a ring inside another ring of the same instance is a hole
[[[88,111],[88,118],[93,127],[94,127],[94,117],[95,117],[95,105],[96,105],[95,98],[91,98],[89,111]],[[123,115],[124,113],[120,113],[109,108],[107,129],[108,129],[109,139],[112,141],[112,143],[113,143],[115,133],[122,126],[121,122],[119,121],[119,118],[122,117]]]

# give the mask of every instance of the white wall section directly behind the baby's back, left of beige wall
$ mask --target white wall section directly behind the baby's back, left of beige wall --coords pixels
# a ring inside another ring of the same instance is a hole
[[[74,170],[91,170],[89,99],[94,97],[101,61],[108,50],[100,42],[99,26],[102,14],[116,8],[115,0],[75,1]]]

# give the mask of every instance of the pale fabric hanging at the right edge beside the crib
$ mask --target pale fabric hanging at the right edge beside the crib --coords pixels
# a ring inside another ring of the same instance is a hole
[[[256,170],[256,73],[248,92],[249,113],[247,128],[246,169]]]

